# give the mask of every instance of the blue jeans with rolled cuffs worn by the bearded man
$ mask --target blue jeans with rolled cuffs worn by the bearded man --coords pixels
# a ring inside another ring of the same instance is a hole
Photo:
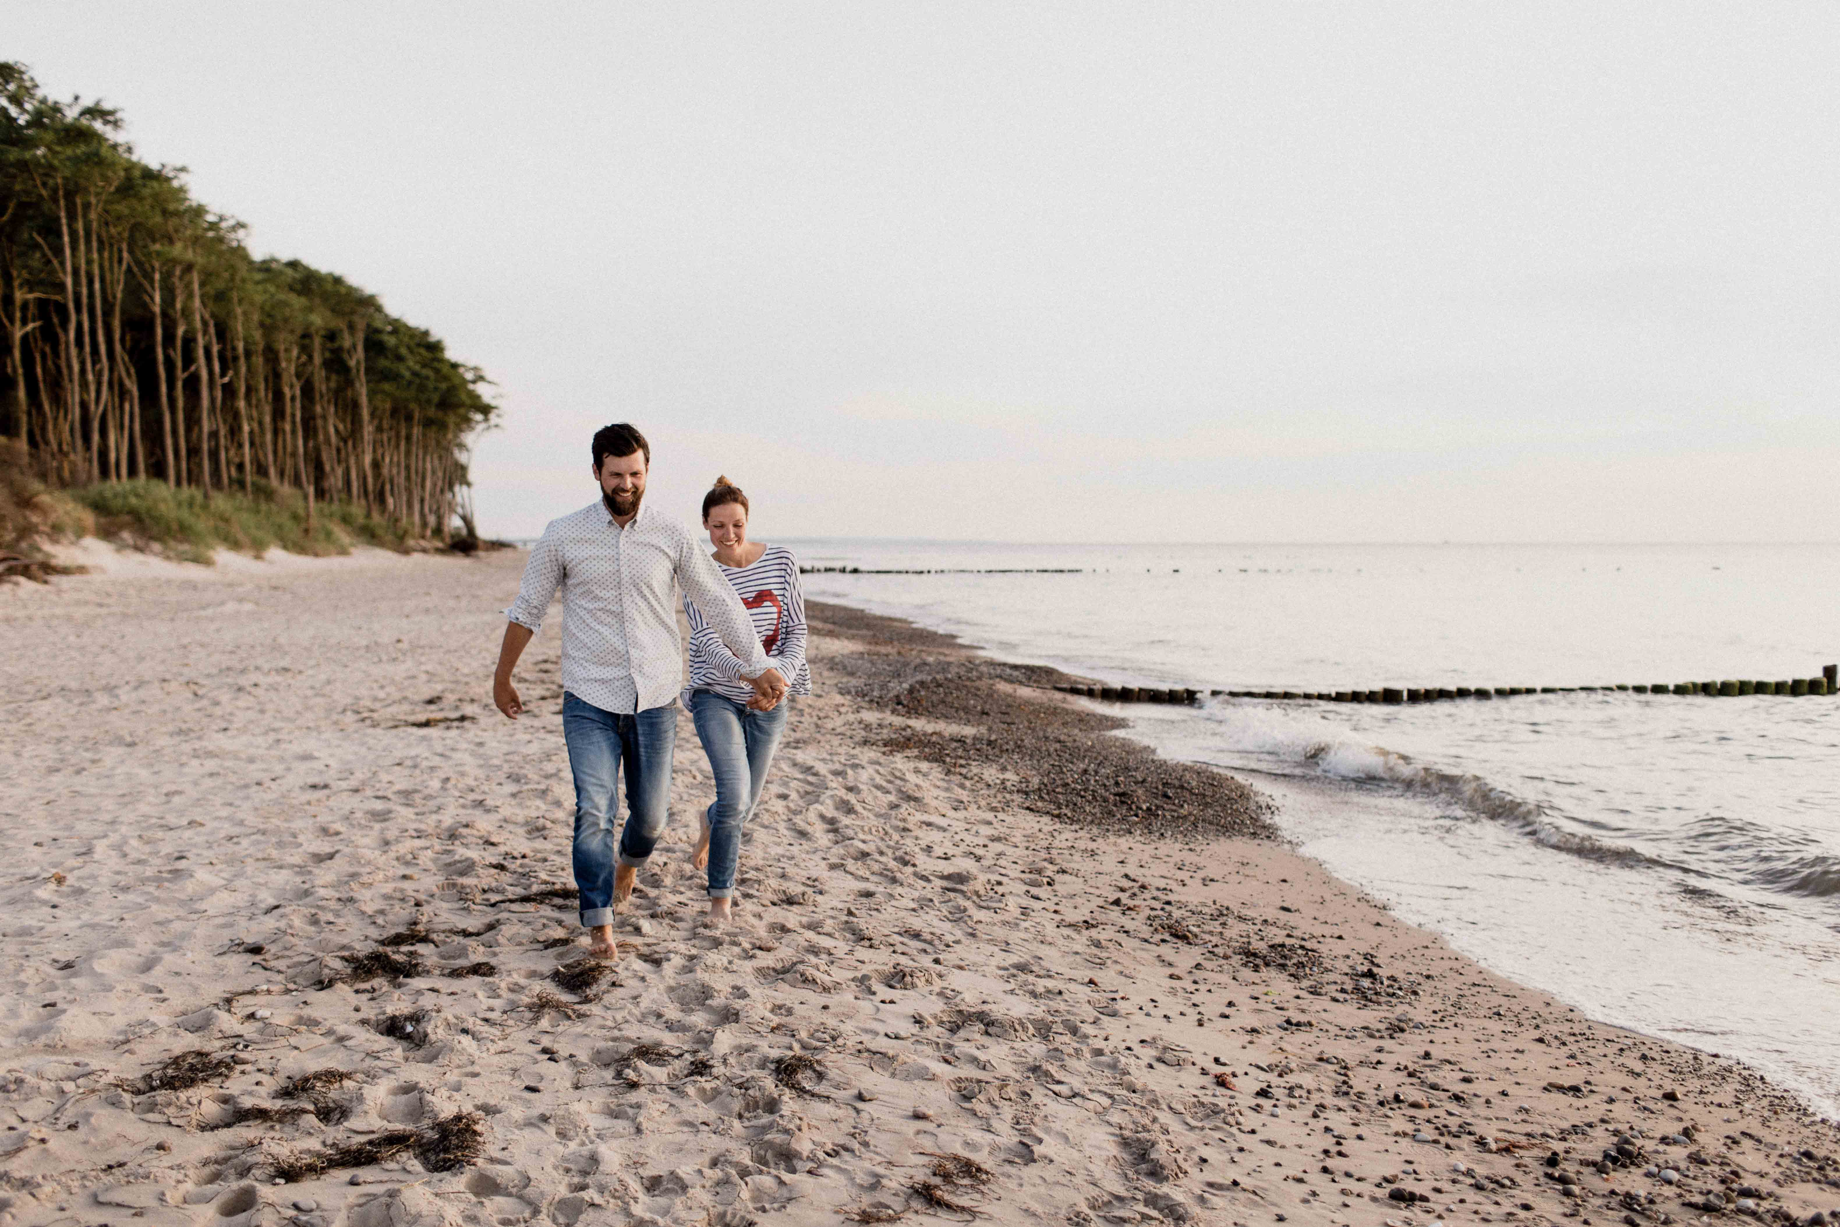
[[[576,782],[574,872],[581,892],[581,923],[611,925],[613,820],[620,804],[620,771],[626,771],[620,865],[644,865],[670,820],[677,705],[618,716],[565,694],[563,740],[569,743],[569,771]]]

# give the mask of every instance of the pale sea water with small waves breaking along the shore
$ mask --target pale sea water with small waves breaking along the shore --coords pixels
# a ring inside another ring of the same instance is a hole
[[[1840,660],[1833,545],[788,545],[859,568],[808,574],[813,598],[1121,684],[1652,686]],[[1479,962],[1840,1111],[1840,699],[1102,706],[1273,793],[1301,852]]]

